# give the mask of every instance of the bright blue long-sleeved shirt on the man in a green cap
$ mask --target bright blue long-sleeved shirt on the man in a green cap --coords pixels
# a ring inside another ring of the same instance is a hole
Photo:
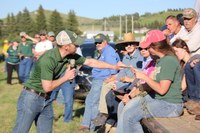
[[[98,60],[107,62],[109,64],[117,64],[117,62],[120,61],[120,58],[117,52],[110,45],[107,45],[101,50],[101,56],[98,58]],[[113,69],[93,68],[92,78],[104,80],[107,77],[116,74],[117,72],[117,70]]]

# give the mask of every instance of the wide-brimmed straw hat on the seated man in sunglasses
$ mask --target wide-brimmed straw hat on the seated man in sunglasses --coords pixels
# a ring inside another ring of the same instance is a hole
[[[125,43],[134,43],[136,45],[139,45],[139,41],[135,40],[135,36],[131,32],[125,33],[124,36],[123,36],[123,41],[116,43],[116,45],[125,44]]]

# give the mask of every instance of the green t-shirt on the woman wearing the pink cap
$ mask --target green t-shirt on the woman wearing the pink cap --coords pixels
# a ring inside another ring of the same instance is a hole
[[[157,60],[153,71],[154,80],[171,80],[171,86],[165,95],[156,93],[155,98],[171,103],[182,103],[180,65],[176,57],[164,56]]]

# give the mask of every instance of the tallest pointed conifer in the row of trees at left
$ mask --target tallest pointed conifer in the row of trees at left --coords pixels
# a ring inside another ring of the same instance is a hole
[[[44,9],[42,5],[39,6],[37,16],[36,16],[36,28],[39,32],[40,30],[47,30],[47,23],[46,23],[46,17],[44,14]]]

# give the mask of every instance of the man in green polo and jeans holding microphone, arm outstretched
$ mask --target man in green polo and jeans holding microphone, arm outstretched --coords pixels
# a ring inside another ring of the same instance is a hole
[[[111,65],[96,59],[81,57],[76,52],[77,35],[69,30],[61,31],[56,36],[57,48],[45,52],[36,62],[29,79],[18,99],[16,124],[13,133],[29,132],[35,121],[38,133],[51,133],[53,124],[53,108],[49,95],[52,90],[75,77],[75,69],[70,69],[71,59],[76,65],[87,65],[96,68],[122,69],[119,62]],[[60,75],[67,68],[65,75]],[[60,77],[60,78],[59,78]]]

